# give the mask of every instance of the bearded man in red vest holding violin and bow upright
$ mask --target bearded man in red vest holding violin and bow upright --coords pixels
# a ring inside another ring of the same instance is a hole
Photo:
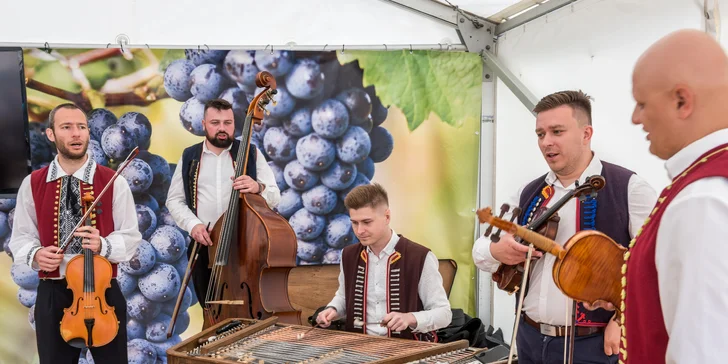
[[[116,281],[117,263],[134,255],[142,236],[129,185],[117,176],[113,188],[101,197],[91,226],[73,228],[83,216],[81,197],[90,192],[97,198],[114,176],[114,171],[94,162],[86,154],[89,128],[86,115],[73,104],[55,107],[46,129],[58,155],[50,165],[23,180],[15,206],[15,223],[10,249],[15,263],[27,264],[41,280],[35,304],[35,334],[40,363],[75,363],[81,348],[69,345],[61,336],[59,323],[64,309],[73,304],[65,273],[71,258],[90,249],[112,263],[111,287],[106,302],[119,320],[114,339],[90,348],[100,363],[127,363],[126,300]],[[93,216],[93,215],[92,215]],[[74,235],[63,254],[61,244]],[[100,292],[97,292],[100,293]]]

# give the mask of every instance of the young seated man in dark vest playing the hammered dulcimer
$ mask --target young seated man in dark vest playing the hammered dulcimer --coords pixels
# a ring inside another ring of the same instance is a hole
[[[345,317],[347,331],[434,341],[452,319],[437,258],[389,227],[379,184],[355,187],[344,205],[359,243],[342,251],[339,289],[316,322],[328,327]]]

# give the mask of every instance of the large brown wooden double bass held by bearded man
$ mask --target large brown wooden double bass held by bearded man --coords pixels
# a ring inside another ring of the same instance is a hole
[[[235,178],[246,173],[254,124],[261,124],[265,106],[277,93],[266,71],[255,80],[263,88],[250,102],[235,159]],[[273,101],[275,103],[275,101]],[[227,211],[215,223],[208,246],[212,269],[205,299],[203,328],[227,318],[263,319],[301,324],[301,311],[288,297],[288,275],[296,266],[293,228],[259,194],[233,190]]]

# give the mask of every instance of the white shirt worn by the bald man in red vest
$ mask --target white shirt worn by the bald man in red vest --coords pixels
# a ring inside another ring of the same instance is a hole
[[[665,163],[672,179],[705,152],[728,143],[728,129],[699,139]],[[728,358],[728,179],[699,179],[665,208],[655,265],[669,335],[665,362],[725,363]],[[629,349],[629,348],[628,348]]]

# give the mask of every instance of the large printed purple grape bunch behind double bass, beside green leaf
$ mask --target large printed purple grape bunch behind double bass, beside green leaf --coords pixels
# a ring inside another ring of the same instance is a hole
[[[374,164],[392,153],[392,135],[381,126],[388,110],[373,86],[363,87],[358,62],[341,65],[335,52],[185,50],[169,64],[164,86],[180,108],[183,127],[204,135],[205,102],[233,105],[240,139],[248,105],[261,89],[259,71],[276,79],[275,104],[251,142],[275,173],[281,201],[275,210],[298,238],[299,265],[337,264],[357,239],[343,200],[368,184]]]

